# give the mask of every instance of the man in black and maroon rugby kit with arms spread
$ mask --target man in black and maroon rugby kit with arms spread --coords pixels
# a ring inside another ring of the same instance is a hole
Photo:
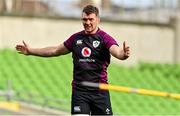
[[[73,34],[58,46],[31,48],[24,41],[17,45],[17,51],[25,55],[42,57],[60,56],[72,52],[72,114],[112,115],[109,91],[83,86],[84,81],[108,83],[107,67],[110,54],[119,60],[130,55],[125,42],[119,47],[106,32],[98,28],[100,22],[98,8],[88,5],[82,11],[84,30]]]

